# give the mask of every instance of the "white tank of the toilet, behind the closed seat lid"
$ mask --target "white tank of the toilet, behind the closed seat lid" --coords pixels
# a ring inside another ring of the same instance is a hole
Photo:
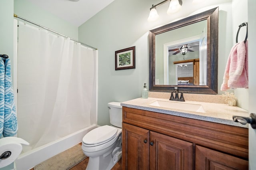
[[[108,109],[111,125],[122,128],[122,106],[120,102],[108,103]]]

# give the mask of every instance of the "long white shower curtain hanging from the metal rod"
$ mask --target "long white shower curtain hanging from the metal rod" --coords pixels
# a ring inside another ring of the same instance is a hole
[[[36,148],[91,125],[94,55],[69,38],[19,22],[18,137]]]

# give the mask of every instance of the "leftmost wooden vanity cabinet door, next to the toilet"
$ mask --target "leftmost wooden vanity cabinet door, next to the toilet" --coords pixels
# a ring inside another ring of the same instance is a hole
[[[149,169],[149,130],[122,123],[122,169]]]

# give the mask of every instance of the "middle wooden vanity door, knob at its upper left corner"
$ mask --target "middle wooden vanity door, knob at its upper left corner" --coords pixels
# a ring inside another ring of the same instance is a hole
[[[150,131],[149,147],[150,170],[193,169],[192,143]]]

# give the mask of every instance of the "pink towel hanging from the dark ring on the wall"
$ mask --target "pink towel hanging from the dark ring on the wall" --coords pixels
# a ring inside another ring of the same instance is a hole
[[[248,88],[248,41],[232,47],[220,90],[236,88]]]

